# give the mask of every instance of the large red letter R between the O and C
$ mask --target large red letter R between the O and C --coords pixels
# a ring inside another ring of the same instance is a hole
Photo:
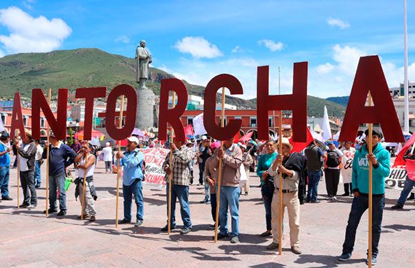
[[[177,104],[169,109],[169,91],[176,92]],[[158,113],[158,138],[167,140],[167,123],[174,128],[175,140],[185,141],[185,131],[180,117],[187,105],[187,88],[180,79],[169,78],[161,80],[160,106]]]

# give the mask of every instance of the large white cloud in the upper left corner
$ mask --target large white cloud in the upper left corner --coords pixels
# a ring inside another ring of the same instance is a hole
[[[10,32],[10,35],[0,35],[0,43],[7,53],[55,50],[72,32],[62,19],[35,18],[14,6],[0,10],[0,25]]]

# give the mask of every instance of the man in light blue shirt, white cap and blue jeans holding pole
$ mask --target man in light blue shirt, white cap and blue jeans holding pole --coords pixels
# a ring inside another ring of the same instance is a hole
[[[119,224],[131,222],[131,202],[132,195],[137,205],[137,221],[135,227],[142,225],[144,221],[144,201],[142,200],[142,181],[144,175],[142,173],[142,162],[144,154],[137,148],[137,137],[127,138],[127,151],[125,153],[117,153],[117,159],[120,160],[120,166],[123,166],[122,173],[122,195],[124,195],[124,219]]]

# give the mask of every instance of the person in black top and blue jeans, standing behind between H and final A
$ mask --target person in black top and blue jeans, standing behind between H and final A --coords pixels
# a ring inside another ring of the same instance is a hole
[[[319,203],[317,200],[318,183],[322,178],[322,156],[323,151],[317,146],[315,141],[311,142],[304,154],[307,158],[308,193],[306,202]]]

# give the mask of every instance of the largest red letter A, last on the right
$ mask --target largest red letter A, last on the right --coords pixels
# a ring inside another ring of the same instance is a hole
[[[365,106],[369,90],[374,106]],[[387,142],[405,142],[378,56],[360,57],[340,142],[354,142],[362,123],[380,123]]]

